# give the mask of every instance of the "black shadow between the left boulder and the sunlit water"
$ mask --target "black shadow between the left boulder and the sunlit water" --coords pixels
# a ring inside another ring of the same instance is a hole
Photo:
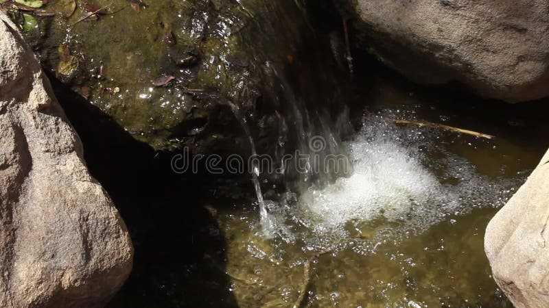
[[[170,154],[136,141],[49,77],[91,174],[113,198],[135,246],[132,274],[108,307],[236,307],[224,273],[224,235],[201,206],[205,180],[176,175]]]

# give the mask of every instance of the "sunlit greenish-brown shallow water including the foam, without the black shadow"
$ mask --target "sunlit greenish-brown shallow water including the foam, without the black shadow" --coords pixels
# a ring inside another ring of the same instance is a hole
[[[280,196],[286,202],[270,212],[280,229],[270,238],[257,207],[220,212],[239,305],[293,305],[305,261],[327,248],[334,251],[314,263],[307,287],[315,307],[505,305],[484,256],[484,228],[526,172],[485,175],[452,151],[463,142],[494,149],[502,140],[369,118],[347,143],[353,174]]]

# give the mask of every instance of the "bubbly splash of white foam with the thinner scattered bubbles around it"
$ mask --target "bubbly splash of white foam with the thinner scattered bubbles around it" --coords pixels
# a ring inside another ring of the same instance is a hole
[[[503,205],[516,181],[478,174],[439,137],[380,119],[364,123],[347,144],[353,174],[309,188],[297,202],[292,215],[309,229],[305,242],[325,245],[365,233],[373,241],[395,240],[473,207]]]

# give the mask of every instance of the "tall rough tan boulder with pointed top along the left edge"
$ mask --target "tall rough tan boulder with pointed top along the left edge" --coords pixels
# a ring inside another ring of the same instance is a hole
[[[100,307],[133,248],[80,139],[0,11],[0,307]]]

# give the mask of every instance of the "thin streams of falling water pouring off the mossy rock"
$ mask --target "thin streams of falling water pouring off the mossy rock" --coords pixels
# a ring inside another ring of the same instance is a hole
[[[318,104],[316,102],[314,110],[309,110],[304,98],[298,97],[294,93],[290,82],[277,71],[271,62],[266,62],[266,68],[279,81],[278,95],[272,98],[276,99],[281,106],[280,113],[277,112],[279,136],[276,149],[272,154],[280,164],[277,170],[281,170],[279,175],[282,176],[282,181],[286,186],[286,193],[297,192],[299,194],[311,187],[320,189],[330,181],[345,175],[343,172],[334,171],[338,169],[338,166],[325,166],[325,158],[328,155],[336,157],[336,155],[342,154],[340,135],[352,131],[349,128],[351,126],[349,110],[346,107],[342,108],[340,115],[335,117],[335,120],[328,112],[325,103]],[[259,157],[244,108],[235,103],[229,103],[229,105],[248,138],[250,154],[252,157]],[[289,161],[282,159],[285,155],[290,155],[292,159]],[[301,159],[301,162],[298,162],[298,159]],[[279,235],[287,242],[293,241],[294,234],[288,229],[285,222],[288,218],[288,209],[285,208],[288,207],[288,202],[284,200],[283,196],[275,201],[265,200],[259,181],[261,172],[264,172],[259,166],[260,160],[249,159],[249,162],[251,181],[259,205],[261,233],[268,238]]]

